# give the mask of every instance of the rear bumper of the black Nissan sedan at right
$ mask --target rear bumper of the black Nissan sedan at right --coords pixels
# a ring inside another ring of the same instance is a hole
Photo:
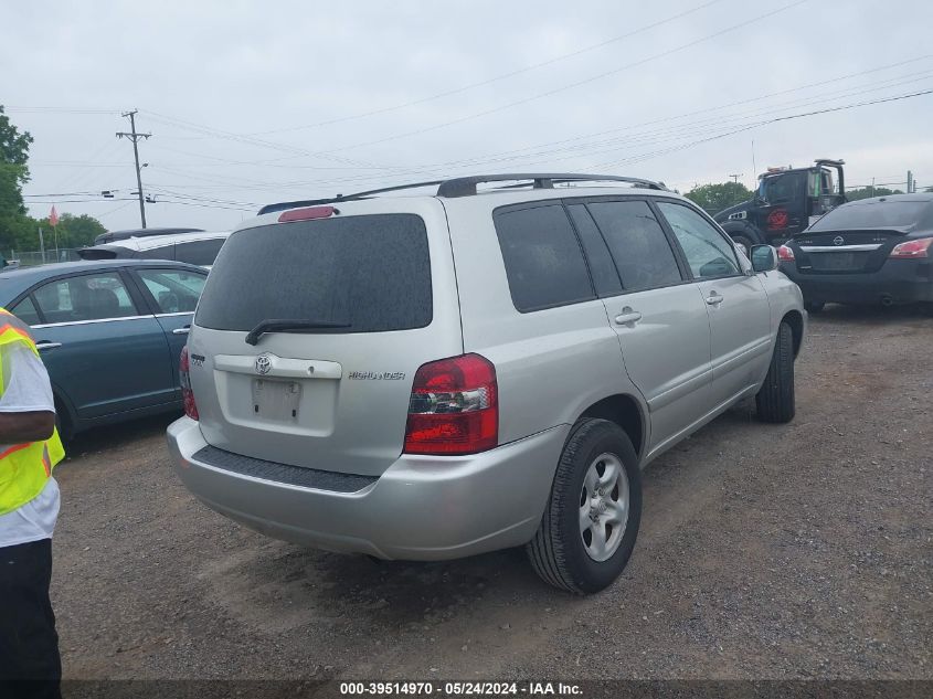
[[[933,260],[888,260],[878,272],[802,274],[793,263],[781,271],[810,303],[911,304],[933,301]]]

